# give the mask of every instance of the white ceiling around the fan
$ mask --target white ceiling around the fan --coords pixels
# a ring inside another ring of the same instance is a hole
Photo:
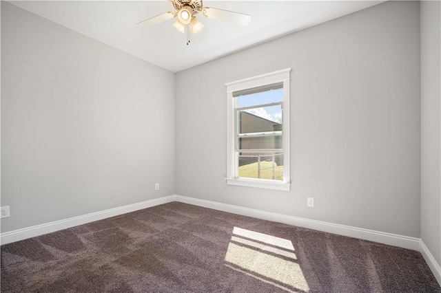
[[[162,1],[9,1],[45,19],[59,23],[172,72],[193,67],[245,47],[275,39],[383,1],[203,1],[206,7],[251,15],[247,27],[198,16],[205,27],[185,34],[174,19],[154,26],[139,21],[167,11]]]

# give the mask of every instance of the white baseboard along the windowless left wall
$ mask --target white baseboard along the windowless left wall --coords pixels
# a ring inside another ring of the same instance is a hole
[[[72,217],[69,219],[62,219],[60,221],[52,221],[50,223],[14,230],[0,234],[0,243],[7,244],[31,237],[40,236],[43,234],[56,232],[66,228],[79,226],[90,223],[92,221],[98,221],[106,219],[108,217],[114,217],[125,213],[134,212],[135,210],[142,210],[143,208],[151,208],[152,206],[158,206],[159,204],[167,204],[168,202],[174,202],[175,196],[170,195],[167,197],[161,197],[158,199],[150,199],[145,202],[139,202],[136,204],[128,204],[127,206],[119,206],[118,208],[110,208],[108,210],[101,210],[96,213],[90,213],[78,217]]]

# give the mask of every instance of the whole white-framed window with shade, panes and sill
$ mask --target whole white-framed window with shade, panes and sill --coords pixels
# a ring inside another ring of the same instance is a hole
[[[227,184],[289,191],[289,72],[227,83]]]

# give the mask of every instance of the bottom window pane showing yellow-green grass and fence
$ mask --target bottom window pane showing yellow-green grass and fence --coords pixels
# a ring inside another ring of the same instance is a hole
[[[283,180],[283,153],[241,152],[238,177]]]

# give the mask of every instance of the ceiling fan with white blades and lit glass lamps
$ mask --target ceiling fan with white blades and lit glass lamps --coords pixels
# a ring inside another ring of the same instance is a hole
[[[201,14],[203,17],[209,19],[220,19],[225,21],[231,21],[239,25],[248,25],[251,17],[248,14],[232,12],[228,10],[222,10],[217,8],[204,7],[203,0],[168,0],[172,2],[176,11],[169,11],[163,14],[159,14],[156,17],[145,19],[136,23],[137,25],[156,25],[162,23],[168,19],[177,17],[177,21],[174,23],[174,27],[179,31],[185,33],[187,28],[187,45],[189,44],[189,29],[195,34],[204,27],[203,23],[196,18],[196,14]]]

